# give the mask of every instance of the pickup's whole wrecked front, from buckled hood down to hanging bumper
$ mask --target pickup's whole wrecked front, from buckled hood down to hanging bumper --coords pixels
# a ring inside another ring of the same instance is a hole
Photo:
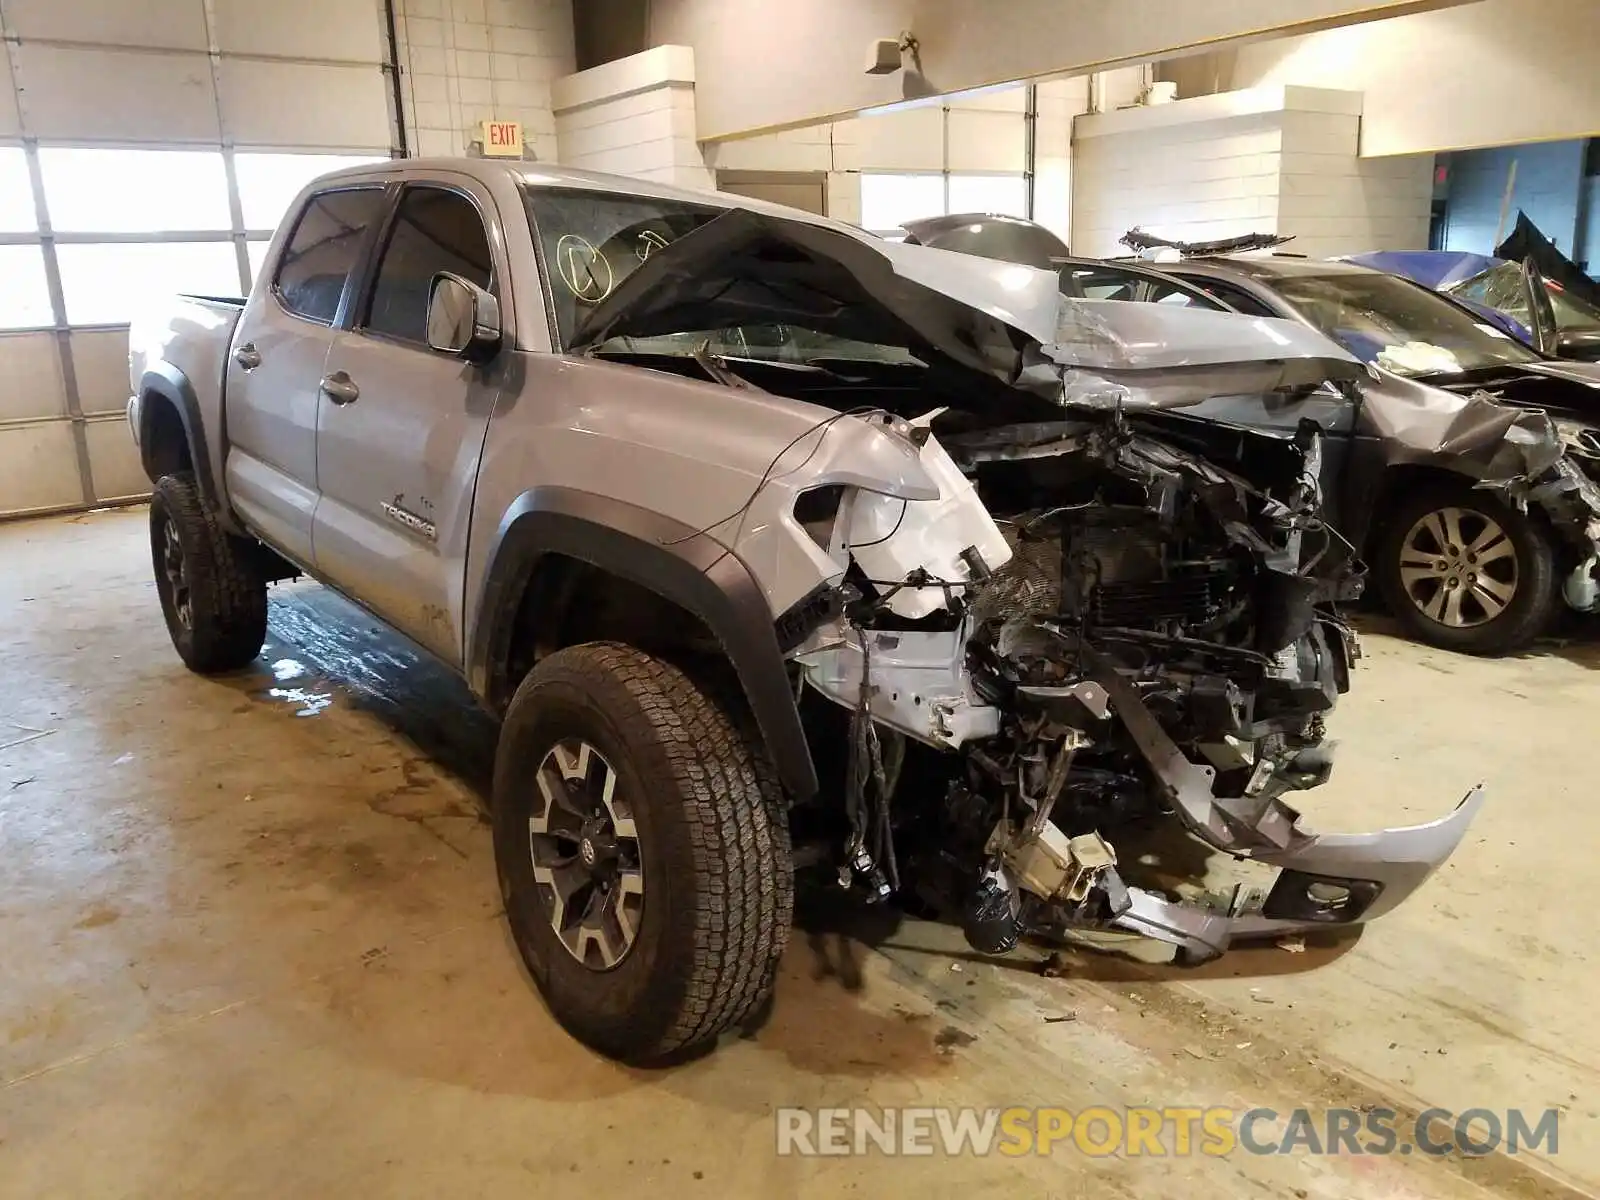
[[[1326,520],[1314,424],[1190,411],[1338,395],[1366,368],[1290,322],[1077,301],[952,258],[734,211],[634,270],[574,346],[835,413],[710,526],[781,581],[795,683],[832,702],[808,730],[835,787],[792,814],[797,858],[931,899],[995,954],[1102,928],[1203,960],[1400,904],[1482,795],[1418,827],[1306,826],[1290,797],[1331,771],[1358,658],[1338,606],[1365,568]],[[1118,843],[1152,819],[1275,882],[1136,886]]]

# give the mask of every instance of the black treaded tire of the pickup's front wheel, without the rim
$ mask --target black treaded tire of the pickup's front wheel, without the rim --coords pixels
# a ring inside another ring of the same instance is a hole
[[[597,749],[627,795],[643,864],[632,947],[610,970],[555,934],[533,880],[536,773],[562,739]],[[494,762],[494,861],[512,936],[579,1042],[650,1066],[704,1046],[771,995],[794,917],[782,789],[752,723],[678,667],[594,642],[517,688]]]

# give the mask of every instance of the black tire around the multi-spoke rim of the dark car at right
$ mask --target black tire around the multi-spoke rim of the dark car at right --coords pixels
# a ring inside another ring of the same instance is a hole
[[[1475,510],[1496,522],[1517,555],[1517,592],[1499,616],[1458,629],[1429,618],[1406,595],[1400,554],[1406,534],[1429,512]],[[1389,514],[1376,555],[1378,587],[1389,611],[1418,642],[1462,654],[1510,654],[1523,650],[1555,621],[1562,598],[1555,584],[1555,536],[1536,515],[1518,512],[1486,491],[1453,485],[1418,488]]]

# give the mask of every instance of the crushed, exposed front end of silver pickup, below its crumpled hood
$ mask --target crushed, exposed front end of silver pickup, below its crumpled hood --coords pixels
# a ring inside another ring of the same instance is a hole
[[[1102,928],[1189,960],[1403,901],[1454,850],[1477,792],[1368,835],[1314,834],[1290,803],[1328,779],[1325,718],[1358,658],[1338,605],[1363,568],[1322,520],[1320,434],[1066,413],[902,426],[930,475],[970,480],[954,512],[842,499],[834,616],[792,654],[848,710],[840,883],[915,888],[990,954]],[[918,554],[939,568],[899,570]],[[1189,899],[1136,886],[1118,843],[1162,819],[1277,867],[1275,883]]]

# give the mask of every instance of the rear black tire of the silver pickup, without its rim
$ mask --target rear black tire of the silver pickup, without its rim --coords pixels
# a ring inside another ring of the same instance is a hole
[[[179,619],[163,566],[166,526],[182,547],[189,619]],[[150,496],[150,558],[166,632],[184,664],[202,675],[248,666],[267,640],[267,582],[254,547],[218,525],[192,474],[163,475]]]

